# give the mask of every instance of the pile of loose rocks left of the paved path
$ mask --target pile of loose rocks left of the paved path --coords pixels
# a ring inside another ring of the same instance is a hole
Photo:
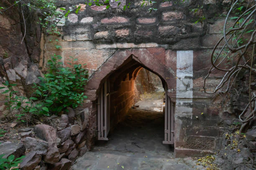
[[[68,108],[67,114],[56,117],[57,126],[39,124],[21,131],[19,143],[0,144],[4,158],[26,155],[20,163],[21,170],[67,170],[74,160],[87,152],[86,127],[89,110],[75,114]]]

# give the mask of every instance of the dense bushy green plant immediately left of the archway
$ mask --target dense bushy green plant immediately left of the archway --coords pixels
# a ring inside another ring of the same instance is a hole
[[[87,96],[82,92],[87,82],[87,70],[81,64],[74,64],[77,59],[71,58],[71,67],[63,67],[60,55],[51,56],[48,60],[49,72],[39,77],[41,83],[34,84],[36,97],[30,100],[40,100],[29,112],[39,115],[59,113],[67,107],[77,107]]]

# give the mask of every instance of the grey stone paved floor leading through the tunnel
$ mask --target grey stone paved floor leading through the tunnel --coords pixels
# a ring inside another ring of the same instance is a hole
[[[73,170],[202,170],[192,158],[174,159],[173,146],[162,144],[164,114],[152,110],[152,104],[162,105],[158,101],[147,107],[140,101],[140,107],[131,109],[111,132],[109,141],[100,141],[78,158]]]

